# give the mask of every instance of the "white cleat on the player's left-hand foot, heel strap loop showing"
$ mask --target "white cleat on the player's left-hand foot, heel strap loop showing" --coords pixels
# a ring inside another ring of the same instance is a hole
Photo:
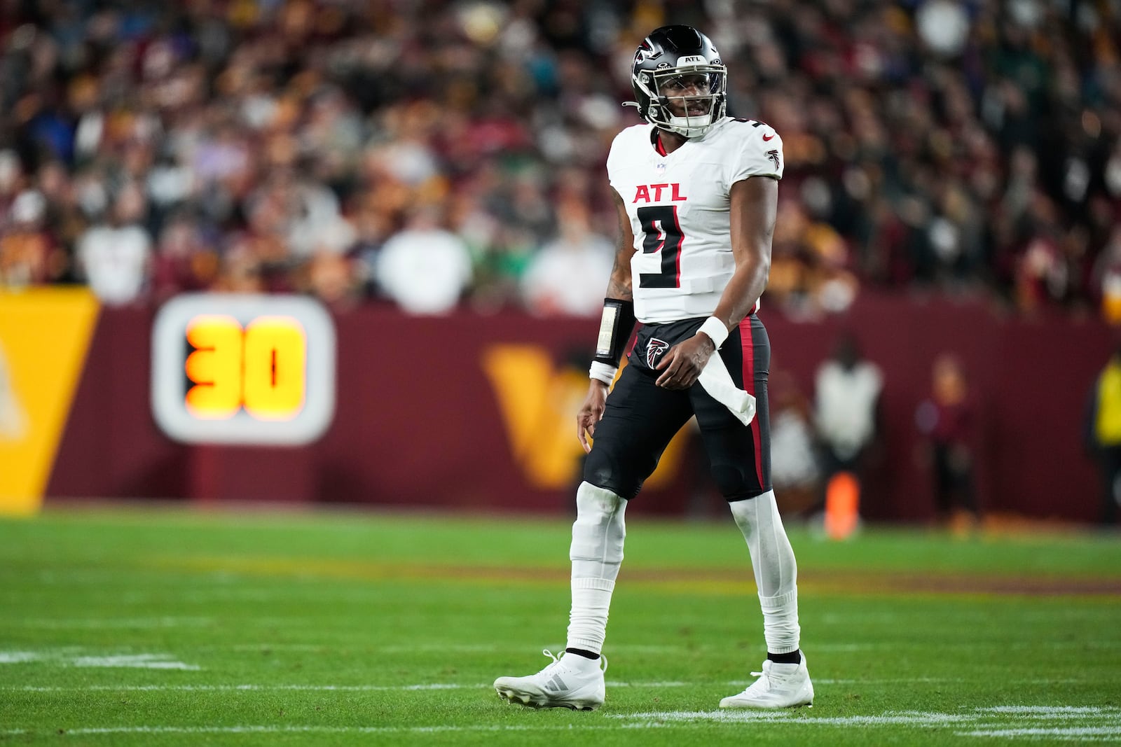
[[[529,708],[571,708],[594,711],[603,704],[603,673],[608,660],[591,660],[577,654],[560,654],[557,659],[548,650],[543,654],[553,663],[529,676],[500,676],[494,690],[502,700]]]

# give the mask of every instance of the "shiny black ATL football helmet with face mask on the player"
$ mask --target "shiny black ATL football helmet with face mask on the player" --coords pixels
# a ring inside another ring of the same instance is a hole
[[[724,115],[728,108],[728,68],[712,40],[692,26],[663,26],[642,39],[634,52],[631,86],[643,121],[663,130],[696,138]],[[669,100],[679,99],[684,116],[675,116]],[[689,113],[688,105],[704,104]]]

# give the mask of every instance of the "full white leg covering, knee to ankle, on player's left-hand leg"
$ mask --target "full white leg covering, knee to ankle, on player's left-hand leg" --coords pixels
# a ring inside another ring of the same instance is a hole
[[[568,648],[600,653],[608,629],[608,608],[623,561],[627,501],[611,491],[581,483],[576,522],[572,525],[572,614]]]

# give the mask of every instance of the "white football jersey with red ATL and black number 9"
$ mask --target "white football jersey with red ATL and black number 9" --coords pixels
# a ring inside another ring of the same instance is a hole
[[[629,127],[611,143],[608,178],[634,233],[631,287],[639,321],[711,316],[735,270],[732,185],[782,178],[782,140],[769,125],[725,116],[661,156],[654,127]]]

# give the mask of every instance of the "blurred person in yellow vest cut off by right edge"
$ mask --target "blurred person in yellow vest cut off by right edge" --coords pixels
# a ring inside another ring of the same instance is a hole
[[[1084,440],[1102,479],[1102,524],[1113,524],[1121,503],[1121,347],[1113,351],[1086,398]]]

